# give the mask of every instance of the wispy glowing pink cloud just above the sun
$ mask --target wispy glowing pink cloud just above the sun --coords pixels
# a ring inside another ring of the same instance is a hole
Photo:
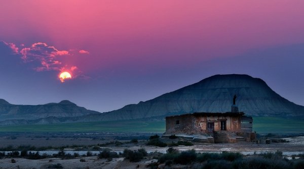
[[[81,71],[76,65],[69,63],[69,60],[77,57],[77,53],[89,54],[89,51],[86,50],[79,50],[77,53],[74,52],[74,49],[59,50],[55,46],[48,45],[44,42],[33,43],[28,47],[25,47],[23,44],[17,47],[14,43],[2,42],[8,48],[11,48],[12,54],[18,54],[20,60],[23,61],[25,65],[30,65],[30,68],[36,72],[73,72],[75,77],[77,77]]]

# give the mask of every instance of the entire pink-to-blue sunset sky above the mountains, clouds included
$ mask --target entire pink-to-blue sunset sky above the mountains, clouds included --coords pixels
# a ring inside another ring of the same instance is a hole
[[[105,112],[216,74],[304,105],[304,1],[0,1],[0,98]],[[60,79],[62,72],[70,79]]]

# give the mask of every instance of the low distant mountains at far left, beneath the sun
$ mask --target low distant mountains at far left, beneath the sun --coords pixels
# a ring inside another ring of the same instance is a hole
[[[68,100],[42,105],[15,105],[0,99],[0,120],[33,120],[48,117],[70,118],[96,113],[99,112],[77,106]]]

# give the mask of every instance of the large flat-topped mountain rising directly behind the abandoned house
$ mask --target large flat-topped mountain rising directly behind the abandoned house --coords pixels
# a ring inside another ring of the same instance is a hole
[[[88,116],[100,116],[100,120],[123,120],[192,112],[226,112],[231,110],[235,94],[239,110],[248,116],[304,116],[304,106],[281,97],[263,80],[236,74],[214,75],[148,101]]]

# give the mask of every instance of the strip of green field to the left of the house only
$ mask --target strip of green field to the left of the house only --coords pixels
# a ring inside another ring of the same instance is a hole
[[[83,122],[45,125],[0,126],[0,132],[165,132],[164,121]]]

